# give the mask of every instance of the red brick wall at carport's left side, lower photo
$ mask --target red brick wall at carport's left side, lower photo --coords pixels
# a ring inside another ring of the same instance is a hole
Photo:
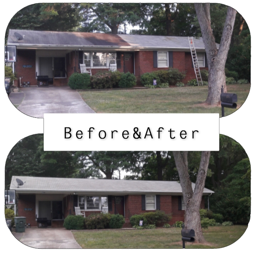
[[[32,208],[32,210],[25,211],[24,208]],[[19,195],[18,216],[26,217],[26,223],[30,223],[31,227],[37,226],[37,222],[35,220],[35,195]]]

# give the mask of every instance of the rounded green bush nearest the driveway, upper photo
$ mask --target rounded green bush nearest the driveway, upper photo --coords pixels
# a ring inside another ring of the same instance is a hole
[[[91,89],[90,75],[74,73],[70,76],[68,85],[71,89]]]

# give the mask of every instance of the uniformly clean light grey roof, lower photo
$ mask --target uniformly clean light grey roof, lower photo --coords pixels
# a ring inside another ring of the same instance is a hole
[[[17,188],[16,179],[25,184]],[[195,184],[192,183],[194,189]],[[181,185],[176,181],[146,180],[110,180],[110,179],[75,179],[56,177],[13,176],[10,190],[17,192],[113,192],[113,193],[182,193]],[[213,193],[204,188],[204,193]]]

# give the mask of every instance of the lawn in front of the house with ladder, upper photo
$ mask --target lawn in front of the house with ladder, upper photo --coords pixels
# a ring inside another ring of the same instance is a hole
[[[228,93],[238,95],[238,108],[246,100],[251,84],[227,85]],[[80,91],[84,101],[97,113],[219,113],[221,106],[202,105],[207,86],[172,87],[167,89],[131,89]],[[238,109],[237,108],[237,109]],[[225,115],[235,110],[225,108]]]

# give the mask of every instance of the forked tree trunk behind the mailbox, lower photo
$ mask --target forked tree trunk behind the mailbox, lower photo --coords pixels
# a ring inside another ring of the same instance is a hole
[[[205,242],[202,235],[201,219],[200,219],[200,204],[202,200],[202,193],[204,191],[204,184],[206,179],[206,172],[208,169],[210,151],[203,151],[201,154],[201,161],[199,170],[197,172],[196,185],[194,192],[192,190],[191,180],[189,179],[187,152],[174,151],[173,156],[176,167],[179,173],[179,180],[181,183],[182,194],[185,205],[185,228],[195,230],[195,242]]]

